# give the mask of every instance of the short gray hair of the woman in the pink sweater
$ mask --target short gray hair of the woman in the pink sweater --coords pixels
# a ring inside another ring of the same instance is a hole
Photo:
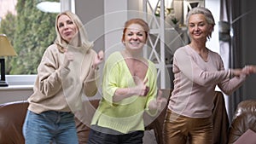
[[[209,9],[203,8],[203,7],[195,7],[195,8],[193,8],[193,9],[190,9],[190,10],[189,10],[189,13],[187,14],[187,19],[186,19],[186,24],[187,24],[187,26],[189,26],[189,18],[190,18],[190,16],[193,15],[193,14],[203,14],[203,15],[205,15],[206,20],[207,20],[207,23],[208,23],[209,25],[212,25],[212,31],[209,32],[207,38],[212,37],[212,32],[213,32],[214,26],[215,26],[215,21],[214,21],[212,12],[211,12]]]

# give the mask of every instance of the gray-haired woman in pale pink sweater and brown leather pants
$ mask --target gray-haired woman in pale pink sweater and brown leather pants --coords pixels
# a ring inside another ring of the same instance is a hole
[[[174,89],[166,111],[164,141],[210,144],[215,87],[230,95],[253,73],[253,66],[224,70],[220,55],[206,47],[215,26],[209,9],[191,9],[187,20],[191,43],[177,49],[173,57]]]

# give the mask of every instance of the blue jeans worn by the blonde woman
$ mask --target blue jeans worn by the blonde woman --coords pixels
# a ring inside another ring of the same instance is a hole
[[[23,135],[26,144],[79,144],[72,112],[27,111]]]

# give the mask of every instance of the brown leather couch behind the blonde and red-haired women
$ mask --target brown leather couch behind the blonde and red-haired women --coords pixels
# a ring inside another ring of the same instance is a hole
[[[171,90],[164,90],[170,95]],[[94,107],[98,106],[99,100],[92,100],[90,104]],[[22,135],[22,125],[26,117],[28,107],[27,101],[15,101],[0,105],[0,144],[24,144],[25,140]],[[165,111],[154,119],[145,129],[154,130],[156,141],[162,144],[162,124],[165,117]],[[90,128],[75,118],[77,132],[79,136],[79,144],[86,144],[88,140]]]

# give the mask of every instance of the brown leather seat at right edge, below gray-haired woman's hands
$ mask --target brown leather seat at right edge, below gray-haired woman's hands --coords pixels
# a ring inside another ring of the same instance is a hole
[[[241,101],[238,104],[230,126],[229,144],[237,141],[247,130],[256,132],[256,100]],[[255,137],[253,139],[256,140]],[[247,141],[243,143],[247,144]]]

